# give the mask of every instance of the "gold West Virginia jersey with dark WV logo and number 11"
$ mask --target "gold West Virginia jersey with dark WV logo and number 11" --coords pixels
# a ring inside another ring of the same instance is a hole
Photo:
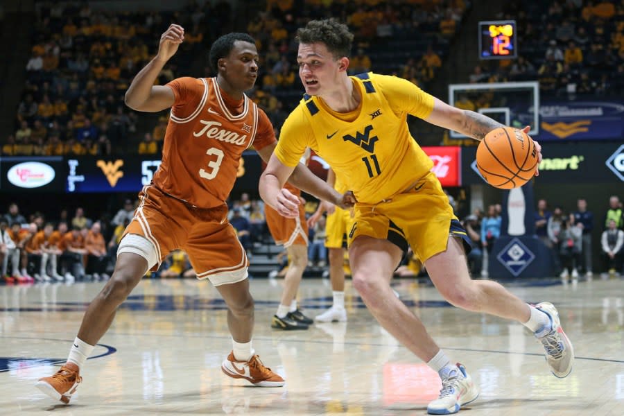
[[[374,204],[404,191],[433,167],[406,122],[408,114],[422,119],[431,114],[433,96],[394,76],[370,72],[350,78],[361,92],[358,108],[338,113],[304,95],[281,128],[275,155],[296,166],[309,147],[358,202]]]

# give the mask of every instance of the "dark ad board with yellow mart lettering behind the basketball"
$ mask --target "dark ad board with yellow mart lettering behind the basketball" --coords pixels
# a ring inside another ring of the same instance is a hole
[[[624,145],[548,143],[542,146],[541,183],[624,182]],[[475,163],[475,148],[462,150],[463,184],[485,184]]]

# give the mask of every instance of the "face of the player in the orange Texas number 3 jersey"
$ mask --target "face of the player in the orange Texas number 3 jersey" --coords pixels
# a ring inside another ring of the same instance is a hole
[[[229,55],[219,60],[220,69],[233,89],[243,92],[252,89],[258,78],[258,50],[250,42],[237,40]]]

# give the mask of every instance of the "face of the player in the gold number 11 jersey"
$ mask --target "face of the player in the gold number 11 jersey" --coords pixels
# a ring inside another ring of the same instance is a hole
[[[342,62],[346,60],[345,62]],[[329,94],[340,85],[341,68],[347,69],[347,58],[336,60],[323,43],[299,44],[297,53],[299,78],[306,93],[313,96]],[[341,67],[342,65],[342,67]]]

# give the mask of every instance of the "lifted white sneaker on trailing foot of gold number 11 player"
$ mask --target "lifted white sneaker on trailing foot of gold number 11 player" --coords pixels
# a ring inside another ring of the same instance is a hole
[[[551,372],[560,379],[572,371],[574,362],[574,349],[572,343],[561,327],[559,312],[549,302],[541,302],[535,305],[537,309],[546,313],[551,318],[552,329],[545,336],[537,338],[546,350],[546,362],[551,367]]]

